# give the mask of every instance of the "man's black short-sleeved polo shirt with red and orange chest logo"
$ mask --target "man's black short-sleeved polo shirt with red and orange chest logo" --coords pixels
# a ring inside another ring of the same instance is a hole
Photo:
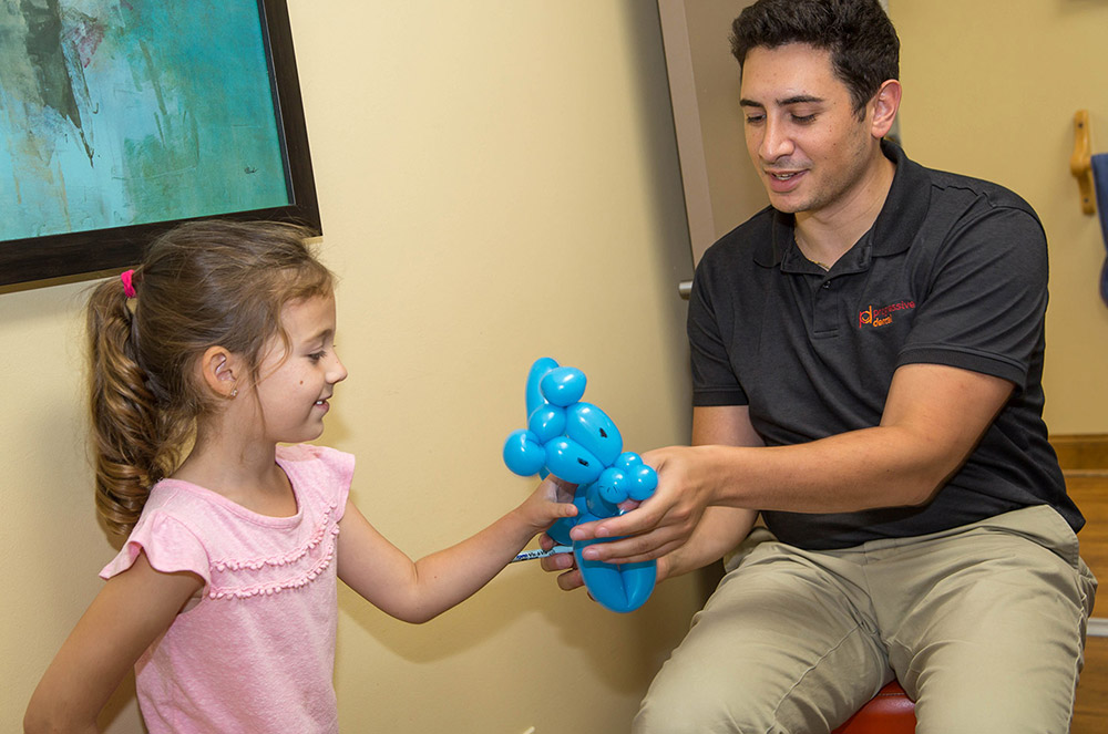
[[[896,145],[873,227],[830,271],[793,217],[766,208],[708,249],[689,303],[695,405],[749,405],[769,446],[881,421],[893,372],[931,363],[1015,391],[966,464],[922,507],[767,511],[779,539],[829,549],[944,530],[1048,504],[1084,525],[1043,422],[1046,235],[1030,206],[987,182],[924,168]]]

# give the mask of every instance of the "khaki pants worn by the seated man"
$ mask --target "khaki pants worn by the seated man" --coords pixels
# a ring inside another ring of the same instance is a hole
[[[893,676],[917,734],[1069,731],[1096,579],[1049,507],[847,550],[770,540],[732,565],[636,733],[827,733]]]

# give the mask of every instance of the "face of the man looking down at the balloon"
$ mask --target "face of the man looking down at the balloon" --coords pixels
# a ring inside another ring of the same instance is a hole
[[[831,54],[806,43],[758,46],[742,64],[747,151],[779,211],[848,207],[873,159],[869,106],[858,118]]]

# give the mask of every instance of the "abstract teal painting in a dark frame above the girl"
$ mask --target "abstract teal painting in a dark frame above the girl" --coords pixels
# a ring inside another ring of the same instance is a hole
[[[0,0],[0,286],[173,223],[319,231],[285,0]]]

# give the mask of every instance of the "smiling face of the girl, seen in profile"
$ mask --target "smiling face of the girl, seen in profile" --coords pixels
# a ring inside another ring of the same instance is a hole
[[[274,442],[314,441],[324,432],[335,384],[347,376],[335,353],[335,297],[286,303],[281,327],[288,334],[288,351],[280,337],[274,337],[259,370],[264,431]]]

